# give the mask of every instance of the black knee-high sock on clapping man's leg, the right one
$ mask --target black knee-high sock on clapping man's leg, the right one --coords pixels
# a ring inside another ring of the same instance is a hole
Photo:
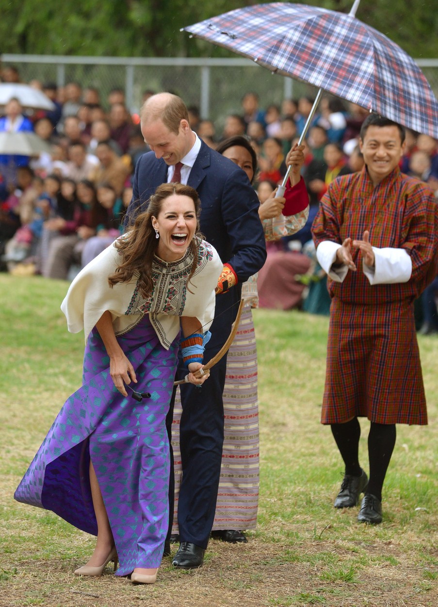
[[[382,487],[396,444],[396,424],[374,424],[368,435],[369,483],[366,493],[382,501]]]

